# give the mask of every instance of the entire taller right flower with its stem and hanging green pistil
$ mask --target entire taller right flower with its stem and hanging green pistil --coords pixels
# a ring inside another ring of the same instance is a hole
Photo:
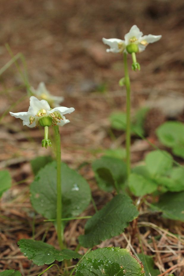
[[[140,65],[136,60],[136,53],[144,51],[149,43],[153,43],[161,39],[161,35],[148,34],[144,35],[139,28],[134,25],[130,31],[125,35],[124,40],[117,38],[106,39],[103,38],[104,44],[110,48],[106,51],[112,53],[123,54],[124,72],[125,77],[120,80],[120,86],[126,86],[126,164],[127,175],[129,176],[130,166],[130,144],[131,144],[131,121],[130,121],[130,78],[127,65],[127,54],[132,56],[132,70],[140,70]]]

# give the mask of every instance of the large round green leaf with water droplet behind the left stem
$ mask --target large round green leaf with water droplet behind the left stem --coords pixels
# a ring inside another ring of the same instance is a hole
[[[63,217],[76,217],[88,207],[91,191],[87,181],[66,164],[61,165]],[[42,168],[31,184],[31,203],[45,218],[56,218],[56,162]]]

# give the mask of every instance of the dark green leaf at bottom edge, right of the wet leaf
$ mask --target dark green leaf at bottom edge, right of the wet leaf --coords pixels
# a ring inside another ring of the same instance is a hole
[[[154,269],[154,261],[151,256],[138,254],[138,257],[144,266],[145,276],[157,276],[160,273],[158,269]]]

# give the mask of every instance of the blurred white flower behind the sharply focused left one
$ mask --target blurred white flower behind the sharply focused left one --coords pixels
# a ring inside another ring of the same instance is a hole
[[[53,107],[57,107],[62,101],[64,101],[64,97],[51,95],[43,82],[39,83],[36,90],[33,87],[31,87],[30,90],[39,99],[48,101]]]

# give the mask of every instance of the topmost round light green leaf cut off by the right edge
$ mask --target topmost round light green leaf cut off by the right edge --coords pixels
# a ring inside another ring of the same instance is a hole
[[[184,144],[184,124],[176,121],[169,121],[158,127],[156,134],[167,147],[175,147],[176,145]]]

